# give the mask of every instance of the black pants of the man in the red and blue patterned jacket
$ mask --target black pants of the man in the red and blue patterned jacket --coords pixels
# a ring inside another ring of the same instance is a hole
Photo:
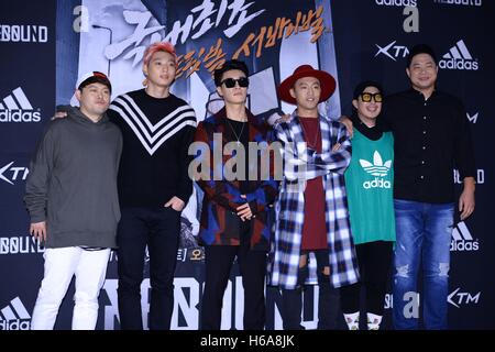
[[[207,245],[205,255],[201,329],[220,329],[223,294],[237,256],[244,287],[244,330],[263,330],[266,252],[250,250],[249,238],[241,237],[241,245]]]

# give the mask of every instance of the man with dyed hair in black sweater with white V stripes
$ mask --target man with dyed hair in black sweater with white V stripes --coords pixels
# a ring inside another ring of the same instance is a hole
[[[121,329],[143,329],[140,287],[146,245],[148,327],[170,328],[180,212],[193,193],[187,152],[196,129],[193,108],[169,91],[176,69],[174,46],[152,44],[143,56],[145,88],[117,97],[109,110],[123,136],[117,234]]]

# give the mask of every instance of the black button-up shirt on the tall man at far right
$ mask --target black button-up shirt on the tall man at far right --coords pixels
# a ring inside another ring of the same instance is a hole
[[[470,124],[460,100],[439,91],[425,100],[409,89],[386,98],[380,120],[394,133],[394,197],[454,201],[453,169],[461,179],[475,175]]]

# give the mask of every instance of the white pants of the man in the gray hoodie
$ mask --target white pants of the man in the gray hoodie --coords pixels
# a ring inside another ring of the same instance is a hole
[[[76,275],[73,330],[95,330],[98,296],[103,286],[110,249],[85,251],[78,246],[46,249],[45,275],[31,320],[32,330],[52,330],[58,308]]]

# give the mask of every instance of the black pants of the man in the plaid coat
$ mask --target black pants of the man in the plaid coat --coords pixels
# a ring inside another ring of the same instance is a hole
[[[338,311],[339,311],[339,290],[330,285],[329,275],[323,274],[326,266],[329,264],[328,250],[312,251],[317,261],[318,275],[318,329],[330,330],[337,329]],[[308,277],[309,252],[304,251],[301,254],[308,254],[308,262],[298,272],[298,286],[296,289],[282,290],[282,319],[284,330],[301,330],[300,315],[302,311],[302,290],[304,283]]]

